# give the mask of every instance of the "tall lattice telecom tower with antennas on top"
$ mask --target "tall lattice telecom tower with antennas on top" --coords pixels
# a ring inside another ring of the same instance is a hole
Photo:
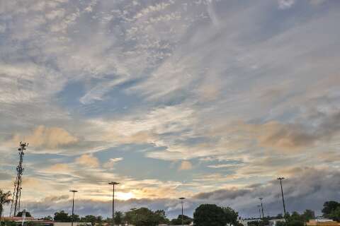
[[[10,216],[16,216],[16,214],[20,211],[20,198],[21,198],[21,182],[22,182],[22,175],[23,175],[23,155],[25,153],[23,152],[26,150],[26,147],[28,146],[28,143],[22,143],[20,142],[19,145],[19,164],[16,167],[16,182],[14,182],[14,191],[13,191],[13,200],[11,204],[11,213]],[[12,215],[13,213],[13,215]]]

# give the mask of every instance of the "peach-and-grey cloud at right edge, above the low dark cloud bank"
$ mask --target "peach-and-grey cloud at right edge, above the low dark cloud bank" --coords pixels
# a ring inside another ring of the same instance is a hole
[[[314,125],[295,122],[283,124],[279,121],[268,121],[263,124],[246,124],[239,122],[235,129],[239,132],[251,133],[262,147],[285,150],[288,153],[305,150],[322,141],[331,141],[340,131],[340,113],[324,114],[315,120]],[[312,120],[312,119],[306,119]],[[231,129],[232,131],[233,129]]]

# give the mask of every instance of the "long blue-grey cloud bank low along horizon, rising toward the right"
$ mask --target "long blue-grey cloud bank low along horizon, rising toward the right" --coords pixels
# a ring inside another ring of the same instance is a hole
[[[291,174],[283,181],[286,207],[289,212],[300,211],[313,207],[317,214],[321,213],[325,201],[336,200],[339,192],[332,189],[340,185],[339,172],[331,169],[317,169],[313,167],[300,168],[297,173]],[[253,186],[254,185],[254,186]],[[108,191],[109,192],[109,191]],[[108,193],[108,196],[110,194]],[[192,215],[195,208],[201,203],[216,203],[219,206],[231,206],[239,212],[239,215],[257,216],[256,207],[259,205],[259,197],[263,198],[265,215],[277,215],[282,213],[280,203],[280,185],[277,179],[259,184],[251,184],[244,188],[217,189],[215,191],[200,192],[187,196],[185,211]],[[70,211],[69,201],[63,198],[49,197],[41,201],[26,202],[27,209],[37,216],[51,215],[57,210]],[[164,209],[166,215],[174,218],[180,214],[181,208],[177,198],[132,198],[126,201],[118,200],[118,210],[129,210],[133,207],[146,206],[153,210]],[[51,205],[53,203],[53,205]],[[110,201],[94,201],[93,199],[77,199],[79,215],[103,214],[109,215],[107,208]],[[106,216],[104,215],[104,216]]]

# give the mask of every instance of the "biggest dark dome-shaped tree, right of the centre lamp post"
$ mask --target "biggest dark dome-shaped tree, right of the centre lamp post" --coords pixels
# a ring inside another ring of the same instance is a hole
[[[193,223],[196,226],[225,226],[227,218],[220,206],[202,204],[193,213]]]

